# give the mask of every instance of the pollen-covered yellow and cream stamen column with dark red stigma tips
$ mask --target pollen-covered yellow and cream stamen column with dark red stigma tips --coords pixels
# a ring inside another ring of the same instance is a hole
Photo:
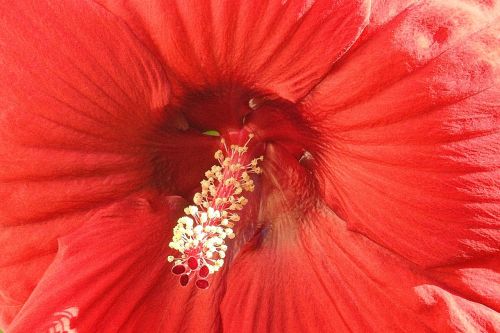
[[[191,280],[200,289],[208,288],[208,278],[224,266],[227,243],[236,237],[233,230],[240,220],[239,212],[248,203],[245,192],[253,192],[252,174],[261,174],[259,166],[263,156],[249,159],[248,143],[228,147],[224,139],[215,152],[217,164],[205,172],[201,192],[195,193],[193,205],[184,209],[185,215],[177,220],[170,248],[179,252],[169,256],[172,273],[186,286]]]

